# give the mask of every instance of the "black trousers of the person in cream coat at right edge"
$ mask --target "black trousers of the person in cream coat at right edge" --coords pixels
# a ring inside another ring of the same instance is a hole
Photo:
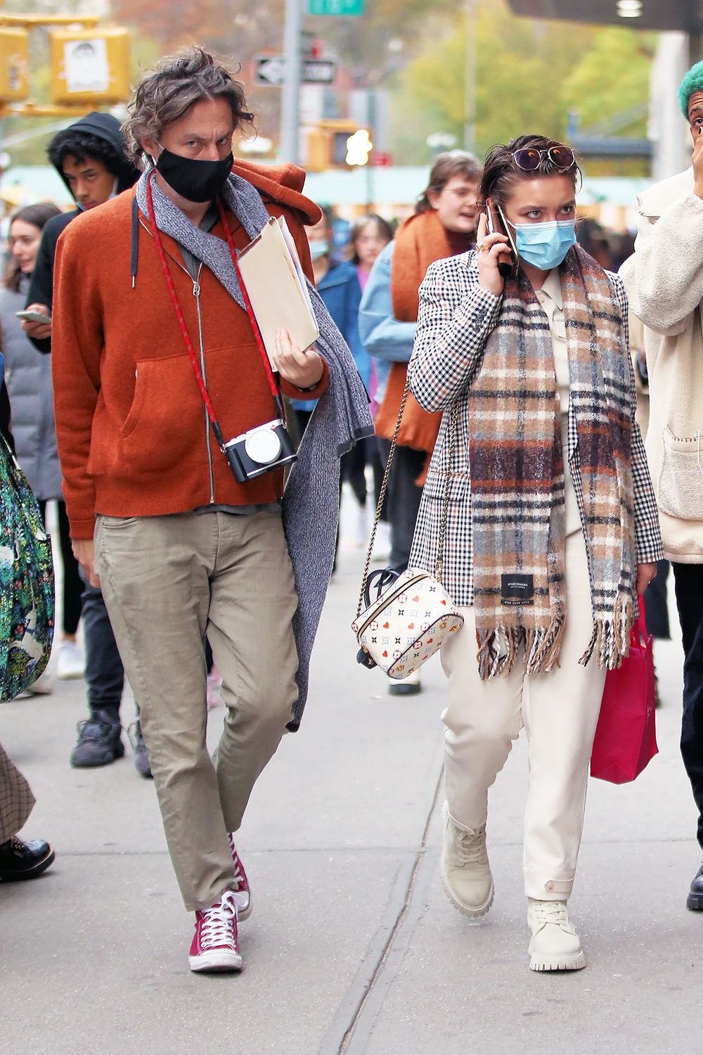
[[[671,564],[683,638],[681,755],[699,811],[703,848],[703,564]]]

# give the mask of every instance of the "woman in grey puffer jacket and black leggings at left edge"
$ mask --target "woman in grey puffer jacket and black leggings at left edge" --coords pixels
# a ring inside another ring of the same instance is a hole
[[[46,502],[56,500],[63,564],[63,621],[58,645],[56,676],[82,677],[83,657],[76,641],[83,583],[71,549],[71,533],[61,493],[61,466],[54,427],[52,362],[42,356],[22,330],[16,312],[24,308],[44,225],[60,210],[51,203],[16,210],[9,224],[9,256],[4,287],[0,290],[0,326],[5,354],[5,379],[11,401],[11,423],[16,457],[46,519]],[[28,690],[51,690],[42,674]]]

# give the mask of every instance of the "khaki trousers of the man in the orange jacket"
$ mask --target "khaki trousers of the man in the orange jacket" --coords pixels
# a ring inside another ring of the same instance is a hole
[[[297,698],[297,606],[280,517],[98,517],[96,572],[139,706],[185,907],[234,886],[228,831]],[[206,746],[203,639],[222,676],[224,729]]]

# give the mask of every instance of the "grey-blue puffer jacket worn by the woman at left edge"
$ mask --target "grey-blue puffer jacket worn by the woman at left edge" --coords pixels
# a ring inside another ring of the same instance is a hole
[[[16,311],[24,308],[28,281],[20,291],[0,289],[0,325],[9,395],[11,427],[20,468],[38,499],[62,498],[56,448],[52,359],[37,351]]]

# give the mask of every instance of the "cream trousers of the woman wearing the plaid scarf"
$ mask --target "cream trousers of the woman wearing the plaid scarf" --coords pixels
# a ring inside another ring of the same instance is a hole
[[[588,769],[605,671],[579,664],[590,640],[588,564],[583,534],[566,539],[567,615],[560,666],[527,677],[515,664],[507,677],[482,682],[472,608],[442,650],[449,678],[443,714],[447,804],[462,828],[486,823],[488,788],[503,769],[520,730],[529,741],[530,783],[525,813],[525,893],[565,901],[575,874]]]

